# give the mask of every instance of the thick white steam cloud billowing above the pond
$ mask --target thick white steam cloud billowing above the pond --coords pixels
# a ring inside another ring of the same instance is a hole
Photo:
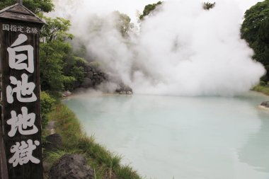
[[[135,93],[233,96],[248,91],[265,73],[240,38],[244,11],[256,1],[219,0],[210,11],[202,9],[202,1],[165,1],[128,40],[115,25],[118,16],[109,13],[120,9],[93,13],[93,1],[87,4],[73,6],[71,33],[110,76]]]

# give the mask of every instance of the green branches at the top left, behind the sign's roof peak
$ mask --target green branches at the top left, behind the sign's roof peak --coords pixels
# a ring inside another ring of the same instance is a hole
[[[1,0],[0,9],[16,4],[17,0]],[[54,9],[52,0],[24,0],[23,5],[33,13],[48,13]]]

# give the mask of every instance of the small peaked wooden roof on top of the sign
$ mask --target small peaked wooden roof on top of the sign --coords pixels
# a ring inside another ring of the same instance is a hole
[[[1,10],[0,18],[44,24],[41,18],[21,4],[14,4]]]

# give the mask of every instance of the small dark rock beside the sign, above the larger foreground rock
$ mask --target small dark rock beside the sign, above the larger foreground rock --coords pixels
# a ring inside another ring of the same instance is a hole
[[[45,151],[53,151],[62,148],[62,137],[59,134],[51,134],[46,137]]]

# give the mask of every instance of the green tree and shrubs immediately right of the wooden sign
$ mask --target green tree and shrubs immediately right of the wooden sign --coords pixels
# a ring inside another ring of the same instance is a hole
[[[40,44],[40,83],[42,90],[72,90],[74,83],[84,81],[86,60],[74,55],[67,39],[71,23],[63,18],[45,18]]]

